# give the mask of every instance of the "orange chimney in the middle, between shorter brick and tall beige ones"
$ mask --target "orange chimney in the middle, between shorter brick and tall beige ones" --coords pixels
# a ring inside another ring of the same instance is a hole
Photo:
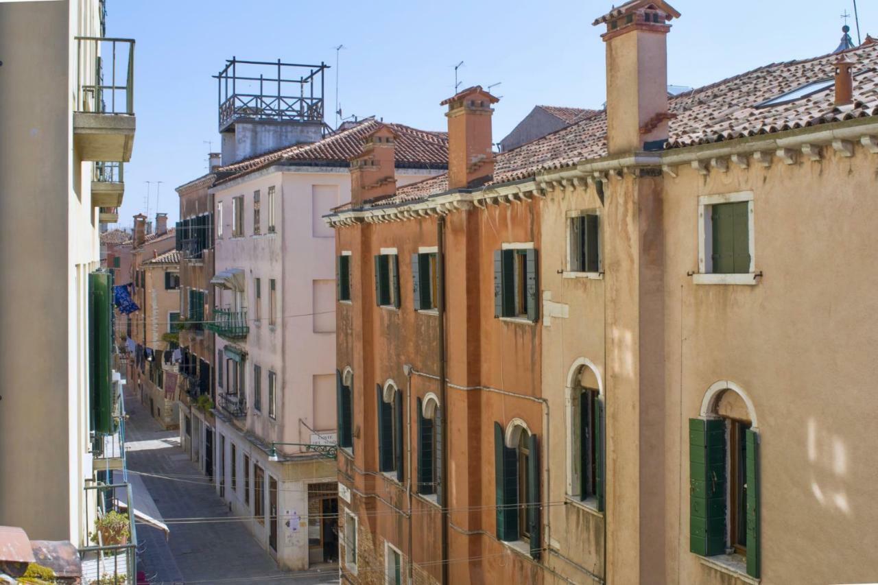
[[[493,176],[491,105],[499,101],[480,85],[443,100],[441,105],[448,105],[449,189],[478,187]]]

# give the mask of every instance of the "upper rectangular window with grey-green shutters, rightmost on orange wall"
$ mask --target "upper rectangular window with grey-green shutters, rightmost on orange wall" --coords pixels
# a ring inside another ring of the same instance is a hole
[[[494,252],[494,316],[539,319],[539,272],[536,249],[504,248]]]

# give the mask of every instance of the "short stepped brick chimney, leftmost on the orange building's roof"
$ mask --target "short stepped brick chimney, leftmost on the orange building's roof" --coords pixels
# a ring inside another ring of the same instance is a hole
[[[396,192],[395,147],[399,135],[382,124],[363,139],[363,150],[350,159],[350,203],[362,206]]]

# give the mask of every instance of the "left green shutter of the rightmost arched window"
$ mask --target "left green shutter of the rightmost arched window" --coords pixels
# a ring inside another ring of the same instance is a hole
[[[689,419],[689,550],[725,553],[725,422]]]

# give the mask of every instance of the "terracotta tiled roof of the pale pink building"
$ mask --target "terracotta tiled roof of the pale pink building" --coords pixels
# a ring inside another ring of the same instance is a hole
[[[382,125],[389,126],[393,132],[399,134],[395,150],[397,165],[430,169],[448,167],[448,133],[429,132],[402,124],[366,119],[356,126],[330,134],[317,142],[280,148],[264,155],[219,167],[219,172],[232,172],[234,174],[218,181],[217,184],[241,177],[241,175],[262,169],[278,161],[301,161],[303,164],[331,162],[346,167],[349,165],[349,160],[359,155],[363,150],[363,139]]]

